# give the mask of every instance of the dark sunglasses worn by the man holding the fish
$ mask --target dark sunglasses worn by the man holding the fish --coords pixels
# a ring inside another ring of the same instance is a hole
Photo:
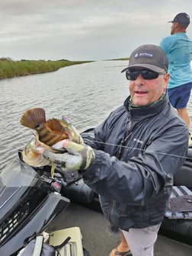
[[[126,79],[127,80],[136,80],[139,74],[142,75],[142,78],[145,80],[152,80],[158,78],[158,75],[164,75],[166,72],[155,72],[152,70],[142,69],[142,70],[127,70],[126,71]]]

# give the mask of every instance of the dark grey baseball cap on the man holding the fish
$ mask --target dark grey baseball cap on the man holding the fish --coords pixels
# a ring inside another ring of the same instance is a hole
[[[153,44],[144,44],[133,50],[133,53],[130,55],[128,67],[121,72],[136,67],[150,69],[159,73],[168,72],[168,59],[162,47]]]

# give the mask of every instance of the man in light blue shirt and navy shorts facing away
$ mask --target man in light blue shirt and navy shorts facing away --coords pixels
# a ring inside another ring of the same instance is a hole
[[[185,12],[177,14],[171,22],[171,36],[164,37],[160,46],[168,58],[168,97],[172,106],[177,109],[179,116],[190,128],[190,117],[187,103],[192,86],[192,41],[187,37],[186,30],[190,17]]]

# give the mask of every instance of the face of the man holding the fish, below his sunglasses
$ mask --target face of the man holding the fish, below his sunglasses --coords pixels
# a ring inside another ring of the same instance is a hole
[[[169,74],[165,74],[158,75],[158,78],[152,80],[146,80],[139,74],[136,80],[130,81],[130,96],[133,104],[141,107],[158,101],[167,88],[168,78]]]

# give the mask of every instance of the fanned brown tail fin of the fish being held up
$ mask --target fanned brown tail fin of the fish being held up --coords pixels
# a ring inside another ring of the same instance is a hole
[[[41,107],[36,107],[27,110],[21,117],[20,123],[23,126],[27,126],[30,129],[35,129],[35,127],[40,123],[46,122],[45,110]]]

